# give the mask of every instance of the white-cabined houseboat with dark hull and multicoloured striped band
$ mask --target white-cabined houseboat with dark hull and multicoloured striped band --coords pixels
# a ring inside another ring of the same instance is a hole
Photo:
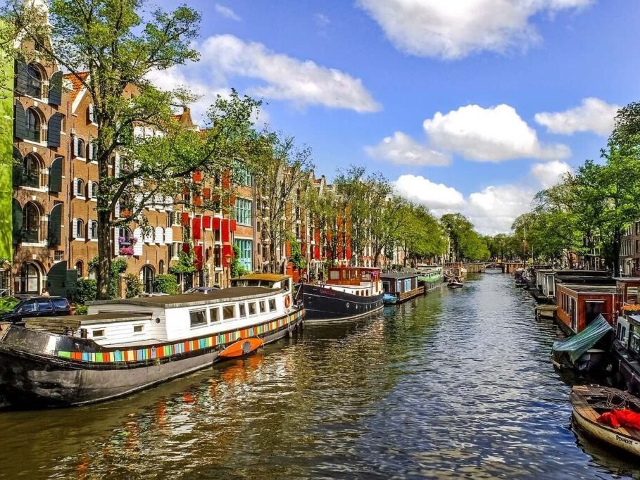
[[[0,324],[0,396],[18,406],[97,402],[291,334],[304,315],[291,277],[250,280],[265,284],[95,301],[89,315]]]

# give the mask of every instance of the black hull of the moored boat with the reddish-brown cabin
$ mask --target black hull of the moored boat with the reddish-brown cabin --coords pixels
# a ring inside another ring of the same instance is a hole
[[[384,305],[383,293],[358,296],[313,284],[304,284],[302,292],[306,322],[347,320],[375,312]]]

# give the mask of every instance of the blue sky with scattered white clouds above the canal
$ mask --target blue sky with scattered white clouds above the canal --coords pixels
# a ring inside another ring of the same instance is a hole
[[[617,106],[640,100],[637,0],[189,5],[201,62],[159,86],[202,94],[196,114],[230,87],[263,98],[261,120],[311,146],[318,175],[367,165],[482,232],[597,158]]]

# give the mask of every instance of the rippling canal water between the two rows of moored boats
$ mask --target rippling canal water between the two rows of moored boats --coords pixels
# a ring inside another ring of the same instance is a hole
[[[134,396],[0,412],[0,476],[640,478],[572,431],[559,336],[478,275]]]

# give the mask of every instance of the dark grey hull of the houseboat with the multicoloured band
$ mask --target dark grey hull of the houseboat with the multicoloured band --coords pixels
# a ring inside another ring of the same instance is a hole
[[[275,320],[274,328],[261,335],[261,339],[264,343],[282,339],[299,326],[303,315],[304,310],[300,310],[284,317],[283,322]],[[16,329],[13,334],[7,331],[5,337],[12,334],[15,341],[6,341],[6,338],[0,341],[0,396],[17,408],[84,405],[124,396],[211,366],[216,360],[223,360],[218,359],[219,353],[237,341],[234,337],[215,346],[187,349],[162,358],[152,356],[142,361],[97,362],[55,355],[46,351],[43,343],[46,334],[35,332],[30,336],[27,329],[12,328]],[[20,341],[20,336],[24,341]],[[64,342],[73,339],[79,350],[87,353],[82,339],[64,336],[58,339]],[[198,341],[192,341],[194,346]],[[89,355],[102,358],[106,353],[114,354],[113,350],[103,349],[101,353]],[[115,353],[118,358],[123,354],[118,350]]]

